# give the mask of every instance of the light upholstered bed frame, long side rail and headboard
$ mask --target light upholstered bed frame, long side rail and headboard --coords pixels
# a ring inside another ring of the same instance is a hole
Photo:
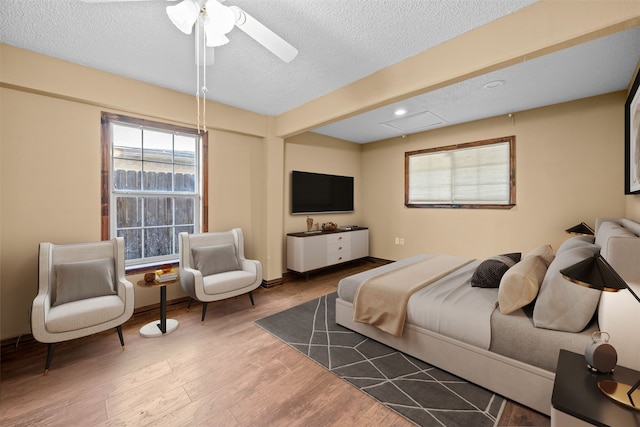
[[[596,221],[596,232],[603,221],[604,219]],[[613,219],[613,221],[619,222],[623,227],[631,230],[636,234],[636,237],[632,239],[610,238],[601,247],[601,253],[627,283],[633,285],[636,290],[638,288],[635,283],[640,283],[640,267],[638,267],[640,265],[640,237],[637,237],[640,235],[640,224],[629,220]],[[624,256],[621,255],[622,253]],[[618,348],[618,351],[620,351],[619,345],[622,345],[625,352],[629,352],[630,357],[634,358],[636,357],[635,353],[640,351],[638,350],[640,332],[635,333],[636,337],[633,339],[629,337],[630,329],[638,331],[639,328],[629,328],[628,319],[629,316],[635,316],[634,319],[637,320],[633,322],[638,322],[636,325],[640,326],[640,306],[635,300],[632,303],[627,301],[629,298],[633,299],[629,292],[619,292],[612,297],[616,298],[615,301],[612,301],[608,296],[601,298],[598,315],[606,316],[606,318],[599,319],[600,325],[612,337],[618,337],[618,345],[614,343],[613,339],[611,341]],[[625,298],[625,302],[621,303],[621,298]],[[611,309],[612,304],[615,305],[615,310]],[[625,309],[620,310],[621,306],[624,306]],[[401,337],[387,334],[374,326],[354,322],[353,305],[340,298],[336,300],[336,322],[543,414],[550,415],[551,413],[551,395],[555,378],[553,372],[480,349],[412,324],[405,325],[404,334]],[[607,329],[604,329],[603,324],[607,325]],[[634,369],[640,368],[640,366],[633,366],[633,360],[629,358],[624,359],[619,356],[618,363]],[[640,363],[640,361],[636,363]]]

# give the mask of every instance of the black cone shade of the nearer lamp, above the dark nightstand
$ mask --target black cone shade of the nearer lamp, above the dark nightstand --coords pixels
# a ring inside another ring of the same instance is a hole
[[[628,289],[622,277],[599,253],[563,268],[560,270],[560,274],[565,279],[587,288],[609,292]]]

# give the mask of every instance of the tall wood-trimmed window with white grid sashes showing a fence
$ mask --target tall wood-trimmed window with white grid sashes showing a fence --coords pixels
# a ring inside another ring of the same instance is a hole
[[[206,134],[103,113],[102,141],[102,237],[124,237],[127,266],[176,261],[178,233],[206,231]]]

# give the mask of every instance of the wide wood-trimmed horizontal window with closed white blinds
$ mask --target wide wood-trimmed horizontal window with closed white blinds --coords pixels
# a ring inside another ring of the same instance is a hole
[[[410,208],[515,206],[515,136],[405,153]]]

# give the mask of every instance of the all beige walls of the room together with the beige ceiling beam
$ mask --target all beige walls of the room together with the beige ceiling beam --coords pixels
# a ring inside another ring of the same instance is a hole
[[[382,258],[424,251],[480,257],[557,244],[564,227],[598,215],[640,219],[640,196],[625,198],[619,189],[623,95],[519,113],[515,123],[495,118],[364,147],[312,134],[281,139],[639,22],[634,1],[545,0],[277,118],[209,103],[209,228],[243,227],[247,254],[263,262],[265,279],[281,276],[284,236],[305,227],[304,217],[288,213],[293,169],[355,176],[355,213],[315,219],[370,227],[371,253]],[[29,332],[38,243],[100,236],[100,111],[186,126],[195,126],[196,113],[193,96],[3,44],[0,55],[0,339],[7,339]],[[511,134],[518,146],[516,208],[403,207],[404,151]],[[591,154],[574,160],[585,146]],[[571,173],[550,171],[576,164],[582,168]],[[593,188],[597,197],[588,197]],[[394,237],[405,245],[394,245]],[[178,295],[169,290],[169,298]],[[157,301],[154,290],[136,289],[137,306]]]

